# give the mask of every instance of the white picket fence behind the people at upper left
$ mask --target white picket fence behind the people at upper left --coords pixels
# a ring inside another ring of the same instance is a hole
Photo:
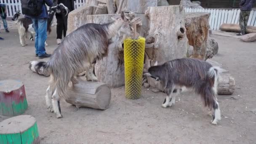
[[[21,1],[20,0],[0,0],[0,3],[4,3],[7,6],[7,17],[13,17],[16,11],[21,11]],[[85,5],[85,0],[75,0],[75,9]],[[47,9],[49,8],[46,5]]]

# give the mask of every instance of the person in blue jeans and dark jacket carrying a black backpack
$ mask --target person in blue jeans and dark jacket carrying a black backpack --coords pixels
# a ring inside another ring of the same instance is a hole
[[[49,7],[53,6],[52,0],[41,0],[41,2],[43,2],[42,13],[39,16],[25,15],[26,18],[32,19],[33,21],[33,26],[35,29],[35,55],[38,56],[39,59],[48,58],[51,56],[51,54],[48,54],[45,51],[45,41],[47,39],[47,19],[49,19],[46,5]]]

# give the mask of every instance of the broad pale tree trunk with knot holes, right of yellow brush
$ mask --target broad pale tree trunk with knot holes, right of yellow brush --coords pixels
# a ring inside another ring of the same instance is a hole
[[[146,37],[145,58],[149,60],[145,60],[145,65],[149,67],[153,66],[155,61],[163,64],[165,61],[186,57],[188,39],[183,7],[180,5],[149,7],[146,16],[149,18],[149,36]],[[159,85],[159,82],[151,80],[150,77],[148,83],[152,87]]]

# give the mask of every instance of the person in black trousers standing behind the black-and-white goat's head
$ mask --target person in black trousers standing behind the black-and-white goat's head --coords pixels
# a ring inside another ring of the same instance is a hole
[[[69,12],[75,9],[74,0],[59,0],[58,3],[63,3],[69,9]],[[61,43],[62,33],[64,37],[66,37],[68,15],[63,16],[61,13],[56,13],[55,16],[57,19],[57,44],[59,45]]]

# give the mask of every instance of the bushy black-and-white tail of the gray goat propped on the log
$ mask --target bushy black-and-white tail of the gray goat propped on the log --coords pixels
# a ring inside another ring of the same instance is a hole
[[[35,72],[39,75],[44,75],[45,77],[48,77],[51,74],[48,62],[45,61],[30,61],[29,69],[32,72]]]

